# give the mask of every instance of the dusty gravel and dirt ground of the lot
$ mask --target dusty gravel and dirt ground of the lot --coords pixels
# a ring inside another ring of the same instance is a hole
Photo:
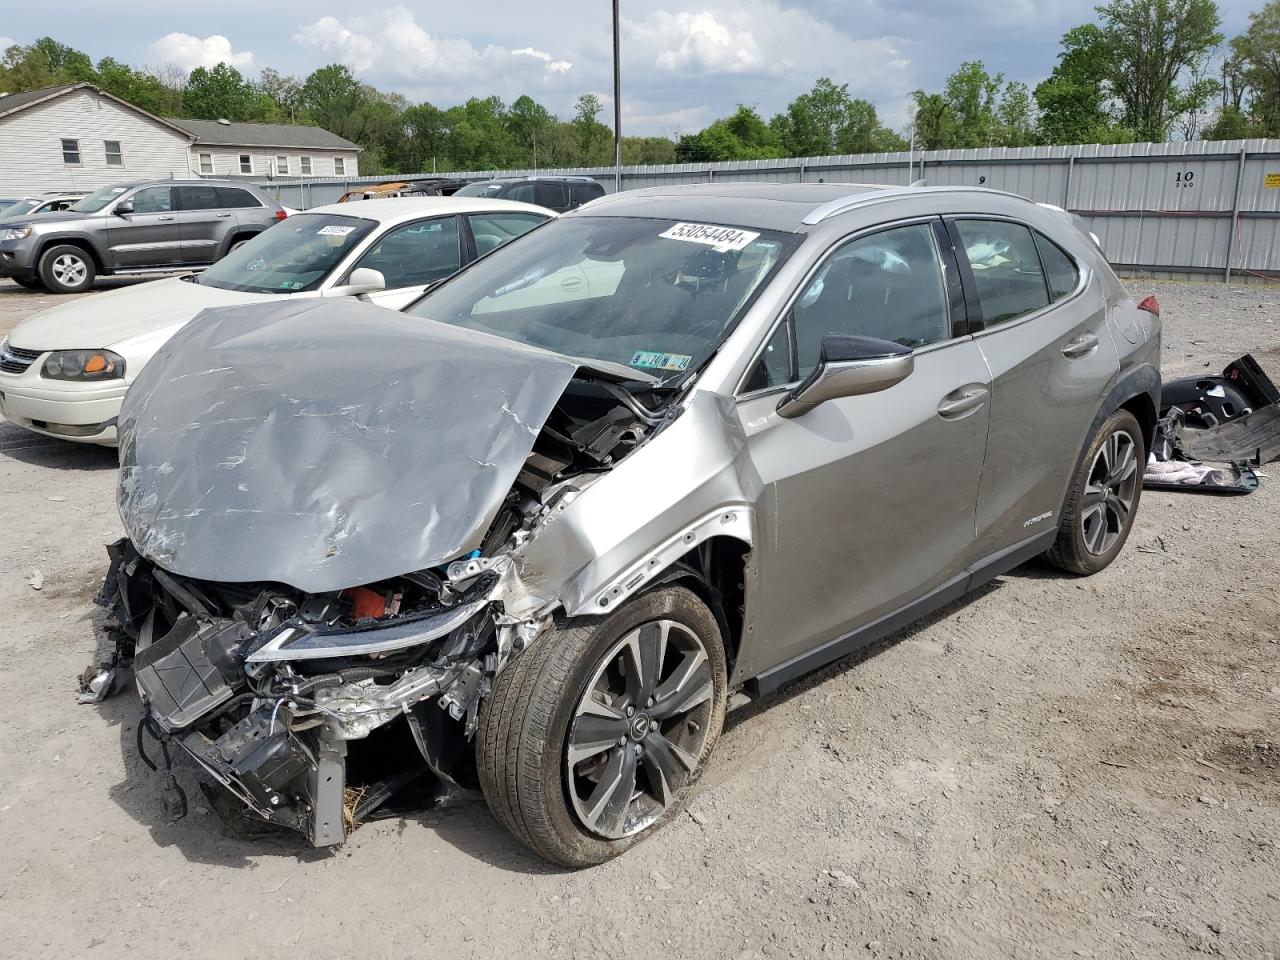
[[[1244,351],[1280,374],[1280,288],[1133,288],[1164,303],[1166,374]],[[0,283],[0,330],[49,300]],[[72,701],[114,481],[109,451],[0,426],[0,929],[23,956],[1280,956],[1275,480],[1148,493],[1105,573],[1027,566],[739,709],[692,815],[576,874],[480,801],[316,852],[228,837],[188,768],[195,809],[165,822],[132,698]]]

